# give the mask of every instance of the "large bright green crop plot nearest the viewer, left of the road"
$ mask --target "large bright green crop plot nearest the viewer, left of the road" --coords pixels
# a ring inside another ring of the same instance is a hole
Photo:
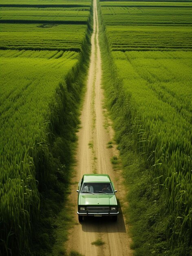
[[[60,86],[67,93],[64,79],[70,72],[73,76],[79,56],[0,51],[0,237],[13,255],[28,247],[31,221],[39,214],[38,186],[50,182],[47,144],[62,104],[57,90]]]

